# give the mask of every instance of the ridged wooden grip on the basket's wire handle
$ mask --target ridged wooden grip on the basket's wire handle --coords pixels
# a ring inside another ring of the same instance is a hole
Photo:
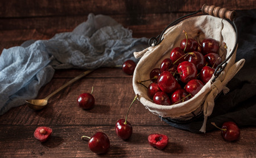
[[[229,19],[231,21],[233,21],[234,16],[236,15],[236,11],[234,10],[230,11],[227,8],[216,7],[213,5],[208,6],[207,4],[204,4],[201,10],[203,13],[216,16],[222,19]]]

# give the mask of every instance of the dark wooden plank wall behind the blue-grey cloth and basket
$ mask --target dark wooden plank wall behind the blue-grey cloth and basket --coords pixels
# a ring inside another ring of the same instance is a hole
[[[229,10],[256,8],[255,0],[1,0],[0,36],[6,38],[1,39],[0,48],[2,52],[3,48],[19,45],[17,37],[49,39],[55,33],[72,31],[89,13],[112,16],[130,28],[134,37],[152,37],[173,20],[199,10],[204,3]]]

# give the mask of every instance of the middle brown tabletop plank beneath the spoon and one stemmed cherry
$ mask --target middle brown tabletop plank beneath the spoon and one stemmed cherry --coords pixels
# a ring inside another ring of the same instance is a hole
[[[103,72],[102,69],[97,72]],[[125,118],[127,109],[135,97],[132,76],[124,76],[121,70],[115,70],[115,76],[101,77],[89,74],[71,86],[63,89],[48,101],[46,108],[39,112],[26,105],[11,109],[0,117],[1,125],[114,125],[120,118]],[[118,76],[121,74],[121,76]],[[56,78],[39,91],[38,99],[43,99],[70,79]],[[119,81],[119,82],[117,82]],[[96,106],[92,110],[82,110],[77,106],[77,97],[84,92],[91,92]],[[72,113],[71,113],[72,112]],[[42,117],[44,116],[44,117]],[[97,119],[95,119],[97,117]],[[150,113],[136,101],[129,113],[129,121],[134,125],[167,125],[158,116]]]

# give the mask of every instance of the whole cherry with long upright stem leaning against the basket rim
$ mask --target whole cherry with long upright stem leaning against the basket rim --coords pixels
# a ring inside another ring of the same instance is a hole
[[[134,97],[134,100],[131,103],[131,105],[133,105],[134,101],[138,97],[139,97],[139,95],[137,94]],[[119,119],[117,121],[117,123],[115,123],[115,133],[117,133],[119,138],[121,138],[123,140],[129,139],[131,137],[131,135],[133,134],[133,127],[131,126],[131,123],[127,121],[127,117],[128,117],[128,113],[129,113],[129,110],[131,108],[131,105],[129,106],[129,109],[127,111],[125,119]]]

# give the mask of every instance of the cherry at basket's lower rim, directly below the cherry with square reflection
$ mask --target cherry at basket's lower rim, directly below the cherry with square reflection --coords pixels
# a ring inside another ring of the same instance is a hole
[[[191,93],[192,96],[195,96],[202,88],[204,87],[204,83],[198,79],[189,80],[189,82],[185,86],[185,90],[188,93]]]

